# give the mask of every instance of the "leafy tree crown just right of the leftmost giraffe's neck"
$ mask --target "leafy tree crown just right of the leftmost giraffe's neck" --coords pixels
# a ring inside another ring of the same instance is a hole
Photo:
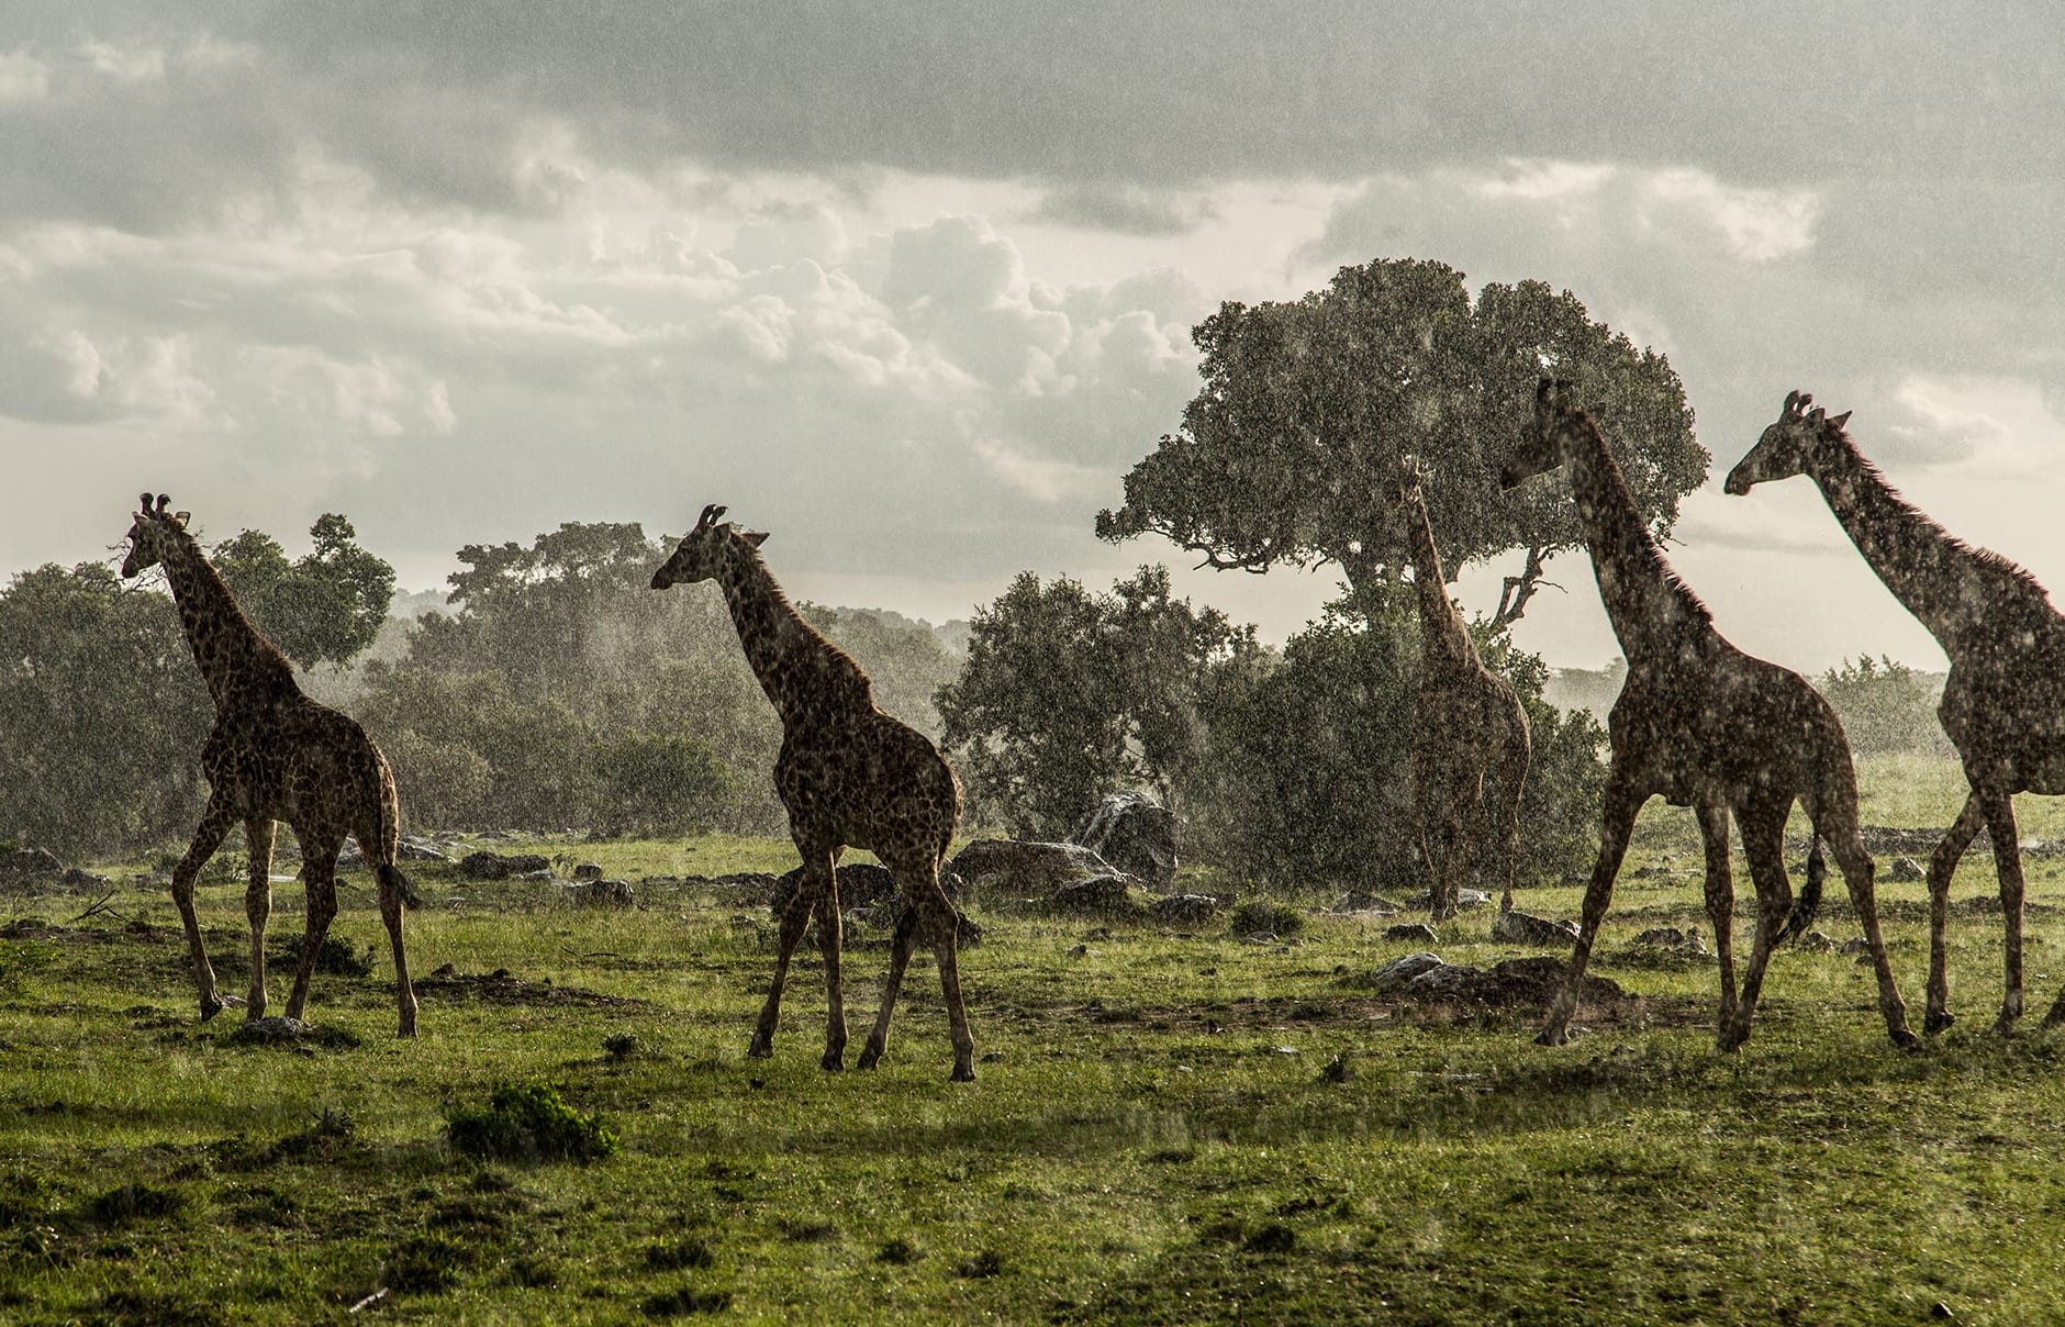
[[[380,636],[394,598],[394,568],[357,545],[337,512],[308,528],[314,551],[287,561],[264,530],[215,545],[213,561],[244,615],[301,669],[345,665]]]

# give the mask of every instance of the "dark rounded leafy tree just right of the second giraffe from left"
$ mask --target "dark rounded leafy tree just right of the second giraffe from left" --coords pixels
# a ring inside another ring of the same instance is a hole
[[[1253,650],[1253,627],[1171,598],[1165,568],[1111,594],[1020,572],[975,613],[968,660],[940,687],[944,741],[977,813],[1018,836],[1061,836],[1115,786],[1171,801],[1204,753],[1212,671]]]

